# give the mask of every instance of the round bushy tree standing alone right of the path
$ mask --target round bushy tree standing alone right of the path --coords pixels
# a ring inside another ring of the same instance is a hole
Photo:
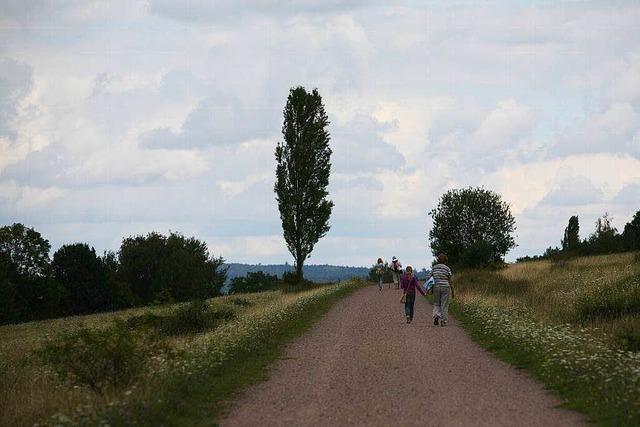
[[[449,190],[429,212],[434,255],[444,252],[453,264],[500,262],[516,246],[515,219],[499,194],[484,188]]]

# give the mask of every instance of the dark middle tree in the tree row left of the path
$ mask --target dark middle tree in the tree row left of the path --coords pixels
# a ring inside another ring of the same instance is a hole
[[[63,245],[53,254],[51,270],[65,290],[66,313],[94,313],[109,305],[112,289],[106,268],[86,243]]]

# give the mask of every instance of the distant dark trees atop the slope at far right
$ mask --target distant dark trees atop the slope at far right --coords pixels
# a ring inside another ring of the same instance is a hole
[[[569,218],[560,246],[549,246],[542,255],[518,258],[518,261],[559,259],[572,256],[601,255],[640,250],[640,211],[624,226],[622,233],[613,226],[613,218],[605,213],[595,222],[593,232],[580,239],[578,215]]]

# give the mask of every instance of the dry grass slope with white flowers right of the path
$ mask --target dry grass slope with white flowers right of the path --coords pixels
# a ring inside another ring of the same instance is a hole
[[[640,424],[639,253],[470,270],[455,286],[452,310],[486,348],[599,424]]]

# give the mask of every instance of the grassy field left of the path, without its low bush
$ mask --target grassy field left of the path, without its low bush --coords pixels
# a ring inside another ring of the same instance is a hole
[[[0,394],[7,396],[0,399],[0,425],[213,425],[227,399],[265,378],[284,344],[360,285],[354,281],[215,298],[208,301],[212,312],[233,310],[234,315],[215,319],[211,329],[200,333],[159,334],[153,322],[150,328],[131,321],[134,335],[157,340],[161,344],[157,347],[170,351],[149,355],[146,370],[133,384],[100,392],[56,375],[34,354],[58,342],[60,331],[105,331],[116,320],[126,324],[127,319],[140,316],[166,319],[180,305],[103,314],[97,319],[85,316],[82,321],[58,319],[2,327],[0,337],[10,342],[20,341],[16,328],[24,334],[17,351],[0,344]],[[10,358],[3,359],[2,354]]]

